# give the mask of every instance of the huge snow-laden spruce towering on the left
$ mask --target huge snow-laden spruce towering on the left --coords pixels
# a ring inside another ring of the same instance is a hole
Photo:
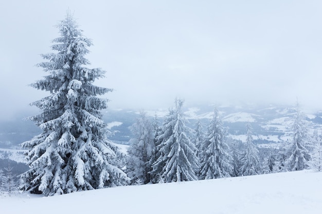
[[[93,85],[105,71],[84,67],[90,65],[85,55],[92,41],[70,14],[57,27],[61,36],[51,46],[56,52],[42,54],[47,62],[38,64],[48,75],[31,84],[50,95],[31,104],[41,110],[30,119],[42,133],[22,144],[30,168],[21,176],[22,189],[51,196],[124,185],[128,177],[117,167],[119,151],[101,120],[108,100],[97,97],[112,89]]]

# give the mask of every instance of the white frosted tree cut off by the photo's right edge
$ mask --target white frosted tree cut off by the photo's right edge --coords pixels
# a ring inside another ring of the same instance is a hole
[[[312,137],[312,153],[309,166],[315,171],[322,171],[322,139],[317,130],[314,130]]]

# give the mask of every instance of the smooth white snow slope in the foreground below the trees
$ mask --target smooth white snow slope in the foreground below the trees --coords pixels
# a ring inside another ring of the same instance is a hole
[[[1,197],[1,196],[0,196]],[[322,213],[322,172],[123,186],[0,198],[0,213]]]

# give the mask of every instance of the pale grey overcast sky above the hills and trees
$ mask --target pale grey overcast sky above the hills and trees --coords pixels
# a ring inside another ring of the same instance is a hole
[[[322,110],[322,1],[1,1],[3,117],[48,95],[27,85],[74,13],[106,70],[110,108],[281,103]]]

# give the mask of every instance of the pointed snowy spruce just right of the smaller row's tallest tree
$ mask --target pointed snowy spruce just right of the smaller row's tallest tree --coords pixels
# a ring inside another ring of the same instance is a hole
[[[230,177],[232,157],[226,143],[227,132],[215,108],[200,151],[200,179]]]

